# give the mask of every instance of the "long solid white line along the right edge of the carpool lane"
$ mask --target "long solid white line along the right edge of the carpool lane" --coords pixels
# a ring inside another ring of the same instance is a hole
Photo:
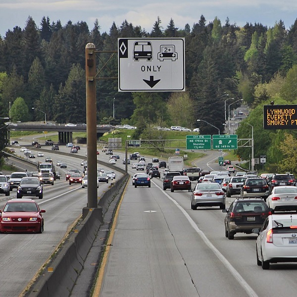
[[[186,219],[189,221],[190,225],[193,229],[198,233],[201,239],[204,241],[207,247],[209,247],[213,253],[218,257],[218,259],[226,266],[226,268],[232,273],[232,275],[237,279],[237,281],[241,284],[243,289],[247,292],[247,295],[250,297],[257,297],[258,295],[255,291],[247,284],[245,279],[239,274],[239,272],[231,265],[231,263],[224,257],[224,255],[210,242],[210,240],[206,237],[206,235],[198,228],[194,220],[190,217],[190,215],[186,212],[186,210],[173,198],[171,198],[165,191],[163,191],[157,184],[152,182],[156,187],[162,191],[167,198],[169,198],[184,214]]]

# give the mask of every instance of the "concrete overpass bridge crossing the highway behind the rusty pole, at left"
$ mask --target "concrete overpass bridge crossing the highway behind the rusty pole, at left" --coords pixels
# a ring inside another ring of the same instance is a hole
[[[66,144],[72,143],[72,134],[73,132],[85,132],[87,133],[87,126],[65,126],[64,124],[57,125],[45,125],[45,124],[26,124],[26,123],[10,123],[6,125],[7,127],[7,135],[5,137],[5,145],[10,144],[10,131],[36,131],[40,133],[50,133],[50,132],[58,132],[58,143]],[[112,129],[108,127],[99,127],[97,126],[97,138],[102,136],[105,132],[110,132]]]

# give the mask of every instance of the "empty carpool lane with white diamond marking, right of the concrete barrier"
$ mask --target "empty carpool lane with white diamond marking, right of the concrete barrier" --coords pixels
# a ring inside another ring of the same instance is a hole
[[[127,187],[100,296],[247,296],[167,192]]]

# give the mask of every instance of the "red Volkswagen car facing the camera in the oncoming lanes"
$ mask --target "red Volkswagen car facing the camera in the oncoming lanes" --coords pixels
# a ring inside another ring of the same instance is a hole
[[[0,210],[0,233],[44,231],[44,219],[38,204],[32,199],[11,199]]]

